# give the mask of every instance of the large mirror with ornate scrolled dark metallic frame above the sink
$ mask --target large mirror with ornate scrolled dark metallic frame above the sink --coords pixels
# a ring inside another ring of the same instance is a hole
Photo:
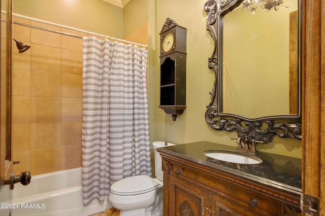
[[[301,139],[301,0],[209,0],[204,9],[214,41],[208,125],[250,141]]]

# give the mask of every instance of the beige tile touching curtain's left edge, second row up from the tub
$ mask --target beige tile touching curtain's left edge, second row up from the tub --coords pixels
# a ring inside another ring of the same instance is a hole
[[[81,145],[82,122],[66,121],[61,122],[61,145]]]

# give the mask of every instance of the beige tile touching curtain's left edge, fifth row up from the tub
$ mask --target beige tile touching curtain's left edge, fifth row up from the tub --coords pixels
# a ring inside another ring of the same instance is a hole
[[[82,52],[62,49],[61,73],[82,75]]]

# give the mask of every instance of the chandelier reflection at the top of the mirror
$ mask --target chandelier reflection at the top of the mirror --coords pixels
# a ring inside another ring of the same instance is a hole
[[[257,8],[266,9],[268,11],[272,9],[277,11],[279,10],[279,7],[289,8],[287,6],[283,6],[282,4],[283,0],[245,0],[242,3],[242,6],[255,14]]]

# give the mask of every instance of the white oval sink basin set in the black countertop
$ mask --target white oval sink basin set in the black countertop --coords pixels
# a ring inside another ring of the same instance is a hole
[[[254,155],[228,150],[207,150],[203,152],[206,156],[232,163],[258,164],[263,160]]]

